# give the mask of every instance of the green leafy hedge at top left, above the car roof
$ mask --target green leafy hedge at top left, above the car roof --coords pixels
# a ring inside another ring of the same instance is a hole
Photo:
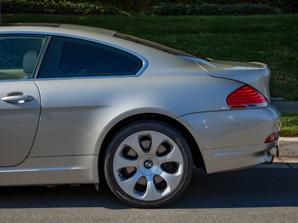
[[[2,13],[44,13],[44,14],[93,14],[93,15],[129,15],[115,6],[100,3],[74,3],[65,0],[58,2],[45,0],[2,0]]]

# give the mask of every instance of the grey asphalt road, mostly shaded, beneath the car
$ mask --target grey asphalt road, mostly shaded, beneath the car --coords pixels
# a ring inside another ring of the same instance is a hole
[[[249,168],[207,175],[195,168],[186,192],[159,209],[136,209],[107,186],[0,187],[0,223],[297,223],[298,169]]]

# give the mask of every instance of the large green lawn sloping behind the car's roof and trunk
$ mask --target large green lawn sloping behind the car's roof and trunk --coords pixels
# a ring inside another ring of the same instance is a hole
[[[271,69],[272,97],[298,100],[298,14],[248,16],[66,16],[3,14],[9,22],[97,26],[203,57],[256,61]]]

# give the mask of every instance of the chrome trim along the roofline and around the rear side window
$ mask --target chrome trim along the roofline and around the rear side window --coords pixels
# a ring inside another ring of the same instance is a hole
[[[0,34],[40,34],[40,35],[63,36],[63,37],[69,37],[69,38],[74,38],[74,39],[86,40],[86,41],[90,41],[90,42],[94,42],[94,43],[100,43],[100,44],[104,44],[104,45],[107,45],[107,46],[110,46],[110,47],[114,47],[114,48],[117,48],[119,50],[123,50],[125,52],[128,52],[128,53],[130,53],[130,54],[138,57],[139,59],[141,59],[143,61],[143,67],[135,75],[36,78],[36,76],[38,76],[38,72],[39,72],[39,70],[38,70],[37,73],[35,74],[35,78],[34,78],[35,80],[87,79],[87,78],[107,78],[107,77],[133,77],[133,76],[140,76],[140,75],[142,75],[144,73],[144,71],[146,70],[147,66],[148,66],[148,61],[144,57],[142,57],[141,55],[139,55],[139,54],[137,54],[137,53],[135,53],[133,51],[127,50],[127,49],[125,49],[123,47],[119,47],[119,46],[116,46],[116,45],[111,44],[111,43],[107,43],[107,42],[104,42],[104,41],[95,40],[95,39],[91,39],[91,38],[86,38],[86,37],[81,37],[81,36],[75,36],[75,35],[70,35],[70,34],[64,34],[64,33],[52,33],[52,32],[28,32],[28,31],[10,31],[10,32],[7,31],[7,32],[5,32],[4,31],[4,32],[0,32]],[[48,41],[48,43],[49,43],[49,41]]]

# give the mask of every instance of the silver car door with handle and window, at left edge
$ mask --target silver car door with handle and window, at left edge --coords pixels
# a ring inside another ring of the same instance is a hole
[[[34,73],[47,42],[44,35],[0,35],[0,166],[21,163],[32,147],[40,94]]]

